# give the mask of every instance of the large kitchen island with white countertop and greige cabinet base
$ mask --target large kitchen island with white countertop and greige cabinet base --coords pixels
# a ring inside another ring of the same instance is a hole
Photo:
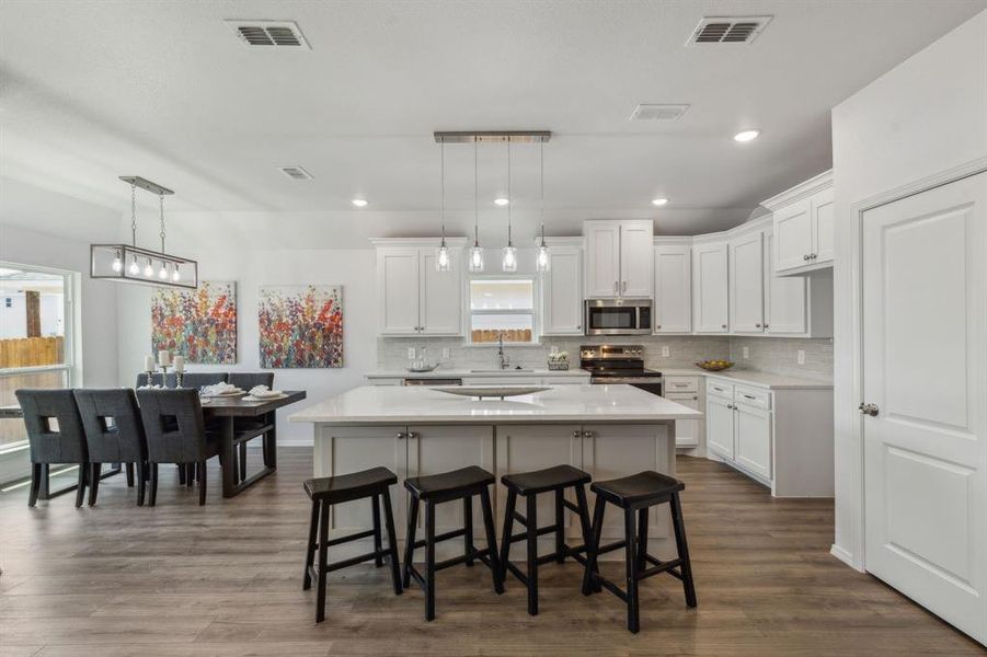
[[[426,387],[368,385],[309,406],[289,419],[313,425],[315,476],[378,465],[398,474],[391,496],[399,542],[403,543],[405,477],[479,465],[500,481],[503,474],[560,463],[585,470],[594,480],[642,470],[674,475],[675,422],[699,417],[697,411],[630,385],[556,385],[505,400],[456,396]],[[538,510],[544,521],[539,523],[547,526],[552,522],[553,502],[550,496],[542,497]],[[506,500],[500,484],[493,499],[500,527]],[[608,514],[605,540],[622,535],[622,518],[618,516],[612,509]],[[478,522],[477,543],[482,544],[479,508],[473,519]],[[369,503],[359,500],[335,507],[330,528],[335,535],[345,535],[367,529],[369,521]],[[658,555],[674,554],[674,545],[666,544],[668,522],[665,509],[651,514],[649,534]],[[460,528],[462,505],[441,505],[436,525],[438,531]],[[571,544],[581,542],[578,521],[571,514],[566,532],[573,539]],[[542,550],[551,551],[551,539],[542,540]],[[512,556],[523,558],[523,544],[515,548]],[[354,542],[340,551],[346,556],[345,552],[357,554],[366,549],[366,544]],[[451,556],[457,550],[461,553],[460,544],[446,542],[439,555]],[[608,556],[623,558],[621,554]]]

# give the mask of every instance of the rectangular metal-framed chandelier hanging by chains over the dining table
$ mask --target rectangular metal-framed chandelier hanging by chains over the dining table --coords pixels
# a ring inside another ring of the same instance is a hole
[[[90,244],[90,277],[159,287],[197,288],[198,263],[164,251],[164,197],[174,192],[139,175],[122,175],[119,180],[130,185],[131,243]],[[138,187],[158,195],[161,251],[137,245]]]

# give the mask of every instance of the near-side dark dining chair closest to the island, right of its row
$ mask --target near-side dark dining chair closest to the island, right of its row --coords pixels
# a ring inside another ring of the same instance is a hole
[[[148,505],[154,506],[158,499],[160,463],[176,463],[180,470],[194,465],[198,473],[198,504],[206,504],[206,462],[219,453],[219,440],[206,433],[198,391],[145,389],[137,391],[137,401],[148,439]]]

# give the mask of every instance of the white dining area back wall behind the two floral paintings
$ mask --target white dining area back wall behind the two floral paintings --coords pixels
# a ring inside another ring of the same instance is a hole
[[[260,243],[231,245],[221,233],[203,226],[179,233],[170,251],[197,257],[202,280],[236,280],[238,306],[238,362],[232,366],[192,365],[190,371],[261,371],[257,347],[257,290],[264,285],[338,284],[343,286],[343,365],[341,369],[275,370],[282,390],[305,390],[308,399],[278,413],[278,442],[312,442],[311,425],[290,424],[287,416],[364,382],[377,367],[376,256],[366,250],[276,250]],[[188,247],[197,244],[197,247]],[[133,385],[151,353],[151,293],[153,288],[118,286],[118,382]]]

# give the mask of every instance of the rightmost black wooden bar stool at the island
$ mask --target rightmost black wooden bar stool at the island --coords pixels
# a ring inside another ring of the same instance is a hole
[[[689,607],[697,604],[696,587],[692,583],[692,565],[686,543],[686,526],[682,522],[682,508],[679,502],[679,492],[685,487],[680,481],[653,471],[618,480],[595,482],[589,487],[596,493],[596,505],[593,508],[593,533],[583,575],[583,595],[588,596],[604,587],[627,602],[628,630],[633,633],[640,630],[638,583],[642,579],[659,573],[668,573],[681,580],[686,593],[686,604]],[[623,509],[624,540],[609,545],[600,545],[607,503]],[[658,504],[668,504],[672,508],[675,544],[678,549],[678,556],[666,562],[647,553],[647,509]],[[636,529],[634,511],[638,512]],[[626,549],[627,591],[601,576],[597,569],[597,560],[600,554],[621,548]],[[647,567],[649,564],[651,567]]]

